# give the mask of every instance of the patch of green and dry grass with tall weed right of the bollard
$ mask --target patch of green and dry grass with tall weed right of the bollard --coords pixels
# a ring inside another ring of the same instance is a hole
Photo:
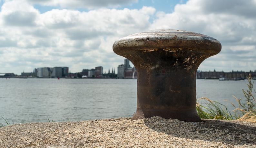
[[[253,81],[252,76],[249,74],[247,76],[247,90],[242,89],[244,98],[236,98],[233,96],[238,102],[238,107],[236,107],[233,103],[234,110],[233,114],[227,109],[227,107],[221,103],[216,101],[212,101],[209,98],[200,98],[196,103],[196,111],[200,118],[203,119],[223,119],[223,120],[247,120],[256,122],[256,100],[253,96],[253,90],[256,93],[255,89],[253,89]],[[200,100],[204,100],[203,105]]]

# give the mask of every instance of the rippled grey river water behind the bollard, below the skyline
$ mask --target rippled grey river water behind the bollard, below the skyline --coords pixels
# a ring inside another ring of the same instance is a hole
[[[247,81],[197,79],[197,96],[234,108]],[[132,117],[136,79],[0,78],[0,115],[10,123]],[[224,101],[229,100],[229,101]],[[0,123],[5,123],[0,119]]]

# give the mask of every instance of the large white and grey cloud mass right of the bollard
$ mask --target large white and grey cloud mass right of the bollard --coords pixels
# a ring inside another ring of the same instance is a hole
[[[177,4],[172,13],[156,13],[157,18],[150,29],[189,30],[218,39],[222,43],[222,52],[205,60],[199,67],[201,70],[214,67],[230,70],[241,65],[246,65],[243,70],[254,70],[255,7],[253,0],[189,0],[186,4]]]

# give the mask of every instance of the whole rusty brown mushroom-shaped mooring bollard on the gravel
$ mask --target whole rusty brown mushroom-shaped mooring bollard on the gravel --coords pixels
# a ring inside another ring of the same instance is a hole
[[[137,111],[132,119],[201,121],[196,71],[203,60],[221,51],[218,40],[190,31],[152,30],[115,41],[113,51],[137,69]]]

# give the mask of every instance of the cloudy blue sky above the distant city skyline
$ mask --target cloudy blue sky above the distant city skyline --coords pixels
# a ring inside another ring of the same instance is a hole
[[[256,70],[256,0],[0,0],[0,73],[67,66],[115,68],[119,38],[154,29],[216,38],[198,70]]]

